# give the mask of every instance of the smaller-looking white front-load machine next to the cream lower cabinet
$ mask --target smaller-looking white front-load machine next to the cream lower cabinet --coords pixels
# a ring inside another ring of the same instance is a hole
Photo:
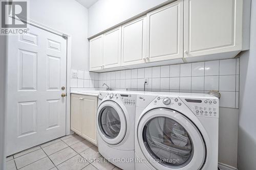
[[[122,169],[135,169],[134,124],[136,94],[102,91],[97,111],[99,153]]]

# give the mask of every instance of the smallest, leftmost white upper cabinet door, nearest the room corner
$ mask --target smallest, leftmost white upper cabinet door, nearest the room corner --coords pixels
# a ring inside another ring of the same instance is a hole
[[[103,64],[103,36],[90,40],[90,71],[102,69]]]

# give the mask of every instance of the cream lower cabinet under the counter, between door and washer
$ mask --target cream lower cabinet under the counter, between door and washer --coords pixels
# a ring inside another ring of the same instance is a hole
[[[98,97],[71,94],[71,130],[97,145]]]

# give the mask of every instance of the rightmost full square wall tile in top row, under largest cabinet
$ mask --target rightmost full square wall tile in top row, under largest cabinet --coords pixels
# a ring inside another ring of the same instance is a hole
[[[220,60],[220,75],[236,75],[236,59]]]

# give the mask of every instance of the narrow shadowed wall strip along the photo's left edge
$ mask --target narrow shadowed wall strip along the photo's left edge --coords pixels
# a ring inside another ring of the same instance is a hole
[[[5,152],[5,85],[6,85],[6,37],[0,35],[0,169],[4,169]]]

